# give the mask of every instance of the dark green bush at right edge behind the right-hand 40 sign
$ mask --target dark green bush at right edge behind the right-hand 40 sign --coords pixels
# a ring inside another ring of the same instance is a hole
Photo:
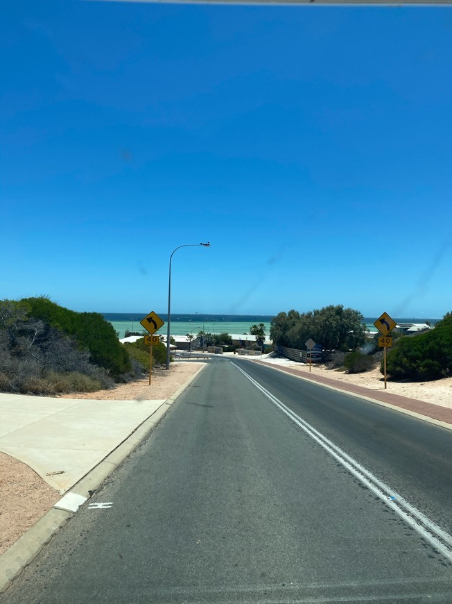
[[[438,380],[452,373],[452,315],[421,335],[401,337],[388,352],[388,375],[399,380]],[[381,367],[383,373],[383,367]]]

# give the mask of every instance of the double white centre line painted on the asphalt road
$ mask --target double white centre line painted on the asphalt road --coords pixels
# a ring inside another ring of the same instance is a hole
[[[392,491],[388,485],[385,485],[379,478],[376,478],[370,471],[365,469],[356,460],[347,455],[345,451],[342,451],[336,444],[331,442],[327,437],[322,435],[307,421],[304,421],[295,412],[290,410],[284,403],[279,401],[276,396],[273,396],[266,388],[264,388],[257,380],[254,380],[249,374],[246,373],[241,367],[238,367],[234,362],[231,364],[241,371],[241,373],[250,382],[256,386],[270,401],[276,405],[286,416],[291,419],[294,423],[302,428],[306,434],[308,434],[315,442],[320,444],[325,451],[327,451],[333,458],[335,458],[345,469],[347,469],[353,476],[358,478],[367,488],[369,488],[376,496],[381,498],[386,505],[392,508],[394,512],[397,512],[399,516],[406,521],[412,528],[414,528],[421,537],[424,537],[433,547],[437,548],[444,557],[452,562],[452,536],[448,532],[442,530],[437,526],[431,519],[427,518],[422,512],[417,510],[408,501],[406,501],[401,495]],[[441,539],[441,541],[440,541]]]

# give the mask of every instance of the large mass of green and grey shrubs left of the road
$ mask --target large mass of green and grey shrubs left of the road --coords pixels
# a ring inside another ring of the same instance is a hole
[[[153,361],[164,362],[165,351],[154,346]],[[124,346],[101,314],[75,312],[46,296],[0,301],[0,392],[94,392],[148,367],[144,342]]]

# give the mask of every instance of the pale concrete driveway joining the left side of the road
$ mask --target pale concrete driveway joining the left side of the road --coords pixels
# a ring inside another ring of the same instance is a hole
[[[64,493],[164,403],[0,394],[0,451]]]

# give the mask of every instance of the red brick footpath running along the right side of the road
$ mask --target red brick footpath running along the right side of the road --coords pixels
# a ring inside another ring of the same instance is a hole
[[[266,365],[267,367],[270,365],[270,363],[266,363],[265,361],[255,360],[254,362]],[[285,371],[286,374],[291,374],[293,376],[298,376],[299,378],[318,382],[319,384],[333,386],[340,390],[345,390],[345,392],[352,392],[353,394],[359,394],[360,396],[367,396],[369,399],[382,401],[383,403],[388,403],[394,407],[406,409],[418,413],[419,415],[437,419],[438,421],[444,421],[444,423],[450,423],[452,426],[452,409],[448,407],[433,405],[433,403],[426,403],[425,401],[418,401],[417,399],[408,399],[407,396],[400,396],[400,394],[391,394],[390,392],[376,391],[370,388],[365,388],[364,386],[343,383],[339,380],[325,378],[324,376],[301,373],[297,369],[293,369],[293,367],[284,367],[281,365],[273,365],[272,367]]]

